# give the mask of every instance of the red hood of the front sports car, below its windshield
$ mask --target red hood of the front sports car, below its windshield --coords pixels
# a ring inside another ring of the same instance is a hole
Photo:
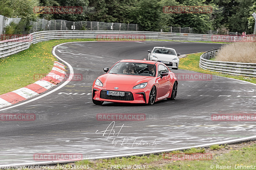
[[[146,83],[154,77],[150,76],[137,76],[137,75],[125,75],[125,74],[103,74],[98,79],[104,84],[116,84],[116,85],[138,85],[140,83]]]

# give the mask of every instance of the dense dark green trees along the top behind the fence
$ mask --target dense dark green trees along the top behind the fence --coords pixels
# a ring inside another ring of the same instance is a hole
[[[35,14],[34,6],[82,6],[79,14]],[[164,13],[164,6],[211,6],[211,13]],[[0,14],[21,17],[26,26],[35,18],[139,24],[142,31],[164,26],[253,33],[255,0],[0,0]],[[29,28],[26,28],[29,29]]]

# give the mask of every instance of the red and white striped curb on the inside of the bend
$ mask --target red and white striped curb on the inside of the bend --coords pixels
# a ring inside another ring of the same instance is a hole
[[[44,78],[18,90],[0,95],[0,108],[10,106],[12,104],[18,103],[19,101],[29,99],[42,92],[45,92],[46,90],[63,81],[65,76],[65,65],[59,62],[54,62],[52,71],[48,73]]]

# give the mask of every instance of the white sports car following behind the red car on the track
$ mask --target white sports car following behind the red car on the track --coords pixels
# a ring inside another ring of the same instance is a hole
[[[179,67],[180,59],[175,49],[166,47],[154,47],[148,50],[148,60],[158,61],[164,63],[167,67],[177,70]]]

